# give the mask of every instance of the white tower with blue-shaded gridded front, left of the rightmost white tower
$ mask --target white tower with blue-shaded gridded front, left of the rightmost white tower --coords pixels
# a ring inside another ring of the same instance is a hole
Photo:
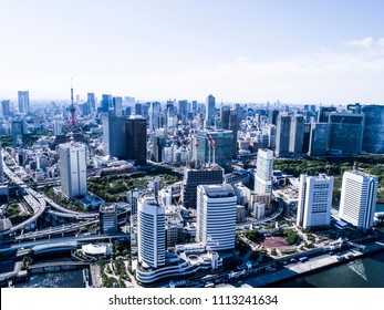
[[[333,176],[300,175],[297,225],[304,230],[328,228],[331,224]]]

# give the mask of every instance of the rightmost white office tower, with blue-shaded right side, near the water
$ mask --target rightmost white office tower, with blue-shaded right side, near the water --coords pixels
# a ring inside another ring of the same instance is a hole
[[[360,170],[345,172],[341,188],[339,216],[366,230],[373,226],[378,178]]]

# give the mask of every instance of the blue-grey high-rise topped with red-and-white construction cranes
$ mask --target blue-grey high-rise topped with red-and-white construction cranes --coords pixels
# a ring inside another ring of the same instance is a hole
[[[231,131],[197,131],[193,137],[193,159],[231,167],[233,152]]]

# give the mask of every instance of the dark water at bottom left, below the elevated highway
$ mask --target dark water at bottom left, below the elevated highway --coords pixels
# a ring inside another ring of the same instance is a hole
[[[82,270],[48,272],[31,276],[28,282],[15,288],[84,288]]]

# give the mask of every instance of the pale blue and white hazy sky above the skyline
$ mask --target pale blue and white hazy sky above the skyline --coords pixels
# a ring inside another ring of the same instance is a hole
[[[384,103],[382,0],[0,0],[0,100]]]

